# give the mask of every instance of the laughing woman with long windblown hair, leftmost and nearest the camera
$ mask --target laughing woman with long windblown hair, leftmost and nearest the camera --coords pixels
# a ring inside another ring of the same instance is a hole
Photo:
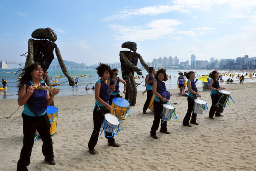
[[[18,81],[18,104],[24,105],[22,112],[23,119],[23,147],[20,152],[20,159],[17,163],[17,171],[27,171],[30,163],[30,156],[34,144],[35,130],[40,134],[43,146],[42,152],[44,160],[49,165],[55,165],[52,138],[50,133],[50,121],[47,116],[47,106],[52,103],[59,89],[54,89],[52,96],[49,96],[49,90],[38,90],[35,86],[47,86],[42,81],[44,71],[41,64],[34,63],[24,68],[19,75]]]

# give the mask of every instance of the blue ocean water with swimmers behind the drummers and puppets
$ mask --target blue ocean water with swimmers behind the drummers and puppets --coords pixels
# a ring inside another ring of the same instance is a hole
[[[17,76],[20,74],[20,72],[17,72],[20,69],[0,69],[0,79],[6,79],[7,80],[7,84],[8,84],[8,90],[4,93],[3,91],[0,91],[0,100],[3,99],[17,99]],[[193,70],[194,72],[196,72],[196,78],[199,78],[199,76],[202,75],[208,75],[210,72],[212,72],[212,70]],[[6,73],[6,72],[10,72],[10,73]],[[16,72],[16,73],[14,73]],[[49,69],[48,70],[48,75],[49,77],[52,77],[52,84],[55,84],[55,82],[53,82],[55,79],[58,81],[59,86],[58,87],[61,91],[57,96],[78,96],[78,95],[86,95],[86,94],[94,94],[93,90],[85,90],[85,85],[89,84],[88,87],[93,87],[93,85],[96,83],[96,81],[98,81],[99,77],[96,73],[95,69],[68,69],[68,72],[70,74],[71,77],[75,76],[78,78],[79,84],[70,87],[67,81],[67,78],[64,76],[64,78],[55,78],[55,75],[64,75],[63,72],[61,71],[61,69]],[[143,75],[147,75],[148,73],[146,72],[146,70],[142,70]],[[189,72],[189,70],[166,70],[167,75],[171,75],[171,80],[168,80],[165,82],[166,84],[166,88],[167,89],[174,89],[177,88],[177,78],[178,78],[178,72]],[[246,72],[241,72],[241,71],[219,71],[220,73],[233,73],[236,77],[237,74],[241,75],[241,74],[246,74]],[[249,73],[249,72],[247,72]],[[16,74],[16,76],[15,76]],[[81,75],[86,75],[87,77],[81,77]],[[134,74],[134,76],[136,75],[136,73]],[[122,74],[121,74],[121,69],[119,69],[119,75],[120,78],[122,78]],[[233,80],[235,81],[235,83],[239,83],[239,80],[237,78],[233,78]],[[226,81],[229,77],[228,76],[224,76],[223,79]],[[74,78],[75,79],[75,78]],[[138,78],[135,79],[135,81],[137,83],[141,83],[138,87],[137,90],[138,91],[144,91],[145,90],[145,81],[144,78]],[[256,81],[256,77],[254,75],[253,78],[248,78],[245,77],[244,82],[253,82]],[[202,81],[198,80],[197,81],[197,87],[198,90],[200,90],[200,87],[203,85]],[[221,83],[221,84],[227,84],[227,83]],[[122,90],[124,89],[124,86],[122,83],[119,84],[120,88],[119,90],[121,91],[121,95],[122,95]],[[179,92],[179,90],[177,89],[177,93]]]

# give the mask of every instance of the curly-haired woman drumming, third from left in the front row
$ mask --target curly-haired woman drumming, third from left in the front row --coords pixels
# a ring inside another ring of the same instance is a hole
[[[167,97],[167,91],[166,91],[166,86],[164,84],[163,81],[167,81],[168,77],[166,75],[166,70],[165,69],[160,69],[157,71],[157,74],[155,75],[155,81],[153,83],[153,93],[155,95],[154,97],[154,121],[153,121],[153,125],[151,127],[151,131],[150,131],[150,136],[154,139],[158,139],[157,135],[157,129],[159,127],[159,122],[161,119],[161,114],[163,112],[163,105],[167,103],[167,101],[169,100],[170,96]],[[166,133],[166,134],[170,134],[167,131],[167,122],[163,122],[163,120],[161,120],[161,128],[160,128],[160,132],[161,133]]]

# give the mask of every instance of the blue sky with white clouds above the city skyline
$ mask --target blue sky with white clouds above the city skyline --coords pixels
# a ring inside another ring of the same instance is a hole
[[[126,41],[146,62],[256,54],[256,0],[0,0],[0,16],[0,61],[25,62],[32,32],[47,27],[64,60],[87,65],[119,62]]]

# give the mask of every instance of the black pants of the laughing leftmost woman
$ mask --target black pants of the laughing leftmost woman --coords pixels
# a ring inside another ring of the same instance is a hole
[[[28,116],[22,113],[23,119],[23,147],[20,151],[20,159],[17,163],[17,171],[27,171],[30,164],[30,156],[34,145],[35,130],[43,141],[42,152],[48,161],[53,160],[52,138],[50,133],[50,121],[47,113],[43,116]]]

